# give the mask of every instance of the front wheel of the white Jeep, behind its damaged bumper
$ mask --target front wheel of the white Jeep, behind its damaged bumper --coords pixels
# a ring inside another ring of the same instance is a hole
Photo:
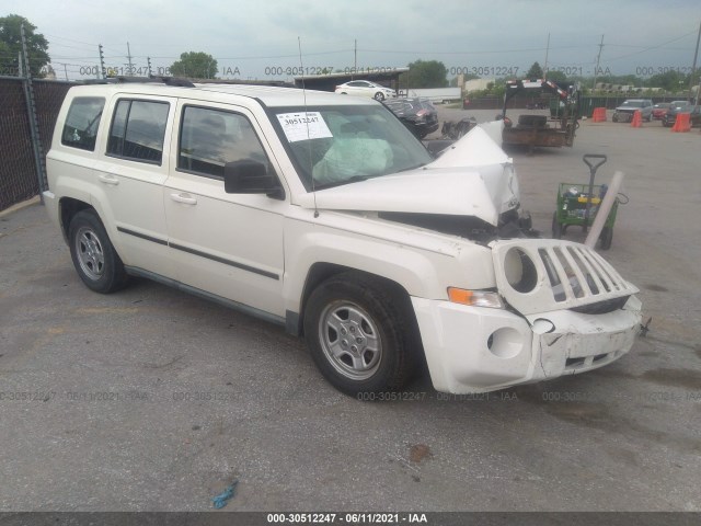
[[[398,390],[411,378],[417,332],[403,299],[358,273],[331,277],[311,294],[304,338],[336,389],[358,397]]]

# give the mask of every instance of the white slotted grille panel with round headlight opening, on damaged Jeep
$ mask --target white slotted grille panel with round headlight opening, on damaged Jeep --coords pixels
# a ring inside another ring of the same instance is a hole
[[[584,244],[533,239],[497,241],[492,248],[499,293],[524,315],[560,309],[611,312],[637,293]]]

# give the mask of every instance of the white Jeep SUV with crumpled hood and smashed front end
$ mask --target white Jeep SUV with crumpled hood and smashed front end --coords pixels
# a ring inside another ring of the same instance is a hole
[[[68,92],[47,169],[88,287],[145,276],[279,323],[346,393],[423,361],[452,393],[583,373],[639,330],[637,289],[594,250],[524,235],[481,127],[434,159],[371,100],[93,84]]]

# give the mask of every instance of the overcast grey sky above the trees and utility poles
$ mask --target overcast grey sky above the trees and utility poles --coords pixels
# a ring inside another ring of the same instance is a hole
[[[94,77],[97,44],[106,66],[170,66],[205,52],[220,77],[291,78],[302,64],[344,70],[440,60],[449,73],[524,75],[533,61],[570,75],[689,72],[701,22],[699,0],[4,0],[49,42],[58,78]],[[701,60],[701,58],[700,58]],[[517,69],[518,68],[518,69]],[[607,70],[608,68],[608,70]],[[452,75],[449,75],[452,77]]]

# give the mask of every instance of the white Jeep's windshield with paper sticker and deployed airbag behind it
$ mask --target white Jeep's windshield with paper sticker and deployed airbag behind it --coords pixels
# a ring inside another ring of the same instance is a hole
[[[381,105],[275,107],[273,113],[308,191],[412,170],[433,160]]]

